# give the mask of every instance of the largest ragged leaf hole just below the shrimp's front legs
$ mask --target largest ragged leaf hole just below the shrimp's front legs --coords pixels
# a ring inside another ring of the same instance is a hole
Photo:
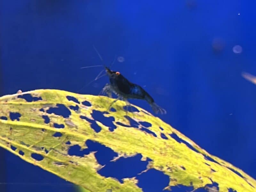
[[[92,110],[91,115],[94,120],[107,126],[109,131],[114,131],[114,129],[116,129],[116,125],[113,124],[113,121],[115,121],[114,117],[105,117],[101,111],[97,110]]]

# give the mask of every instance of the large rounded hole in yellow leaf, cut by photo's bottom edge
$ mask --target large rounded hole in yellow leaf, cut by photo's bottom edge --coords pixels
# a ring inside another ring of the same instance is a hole
[[[163,188],[167,187],[170,182],[168,175],[165,175],[163,172],[156,169],[149,169],[148,171],[137,175],[136,179],[138,180],[137,185],[145,192],[163,191]]]

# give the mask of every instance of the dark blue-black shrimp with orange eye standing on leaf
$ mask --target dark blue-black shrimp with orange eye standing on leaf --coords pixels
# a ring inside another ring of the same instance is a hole
[[[166,114],[166,110],[159,107],[154,99],[141,86],[131,83],[120,72],[112,71],[106,66],[104,67],[109,77],[110,84],[106,84],[102,92],[107,93],[109,97],[112,96],[112,93],[117,95],[117,98],[111,103],[109,108],[111,108],[117,100],[124,100],[129,104],[128,99],[141,99],[146,100],[156,114]]]

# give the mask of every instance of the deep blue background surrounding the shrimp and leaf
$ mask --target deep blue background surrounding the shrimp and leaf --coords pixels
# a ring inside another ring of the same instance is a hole
[[[255,2],[242,0],[0,2],[1,95],[78,92],[102,68],[93,45],[166,109],[159,116],[212,155],[256,178]],[[240,14],[238,14],[240,13]],[[233,46],[243,52],[235,54]],[[97,95],[108,78],[80,93]],[[152,112],[141,100],[132,100]],[[3,149],[0,191],[72,191]],[[30,184],[29,184],[30,183]],[[33,184],[39,183],[39,184]],[[41,184],[40,184],[41,183]]]

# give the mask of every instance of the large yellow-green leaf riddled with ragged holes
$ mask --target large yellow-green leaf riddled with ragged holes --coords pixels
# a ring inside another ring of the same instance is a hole
[[[20,98],[24,94],[28,99]],[[67,96],[75,97],[79,103],[68,100]],[[85,100],[92,106],[82,104]],[[249,175],[228,162],[208,154],[169,124],[137,106],[135,107],[139,112],[126,112],[123,109],[125,103],[117,101],[113,105],[116,112],[109,111],[104,114],[105,117],[115,118],[113,124],[117,128],[111,132],[103,123],[96,121],[101,131],[95,132],[90,126],[91,123],[81,116],[93,120],[92,110],[106,111],[112,100],[105,96],[80,95],[60,90],[35,90],[3,96],[0,98],[0,146],[21,159],[89,191],[126,192],[142,191],[142,189],[137,186],[138,180],[135,176],[124,178],[123,183],[116,178],[101,176],[97,171],[102,165],[97,162],[95,152],[83,157],[68,155],[70,146],[79,145],[81,150],[87,148],[86,140],[99,142],[114,150],[118,153],[114,161],[120,157],[136,154],[142,155],[141,161],[152,159],[143,172],[154,168],[168,175],[170,183],[165,189],[177,185],[193,186],[195,189],[204,188],[207,184],[216,182],[219,191],[228,191],[229,188],[237,192],[256,191],[256,181]],[[49,113],[49,108],[58,108],[60,104],[70,110],[69,116]],[[79,107],[76,111],[69,108],[76,105]],[[11,119],[10,113],[19,113],[20,117]],[[126,115],[137,122],[152,124],[148,130],[154,132],[156,137],[141,129],[140,124],[138,128],[120,125],[120,123],[130,125],[124,117]],[[50,123],[44,123],[42,116],[48,116]],[[63,124],[64,128],[55,128],[54,123]],[[54,137],[56,132],[62,135]],[[163,139],[161,133],[167,138]],[[180,142],[171,137],[174,134],[181,139]],[[42,160],[36,160],[32,154],[42,157]]]

